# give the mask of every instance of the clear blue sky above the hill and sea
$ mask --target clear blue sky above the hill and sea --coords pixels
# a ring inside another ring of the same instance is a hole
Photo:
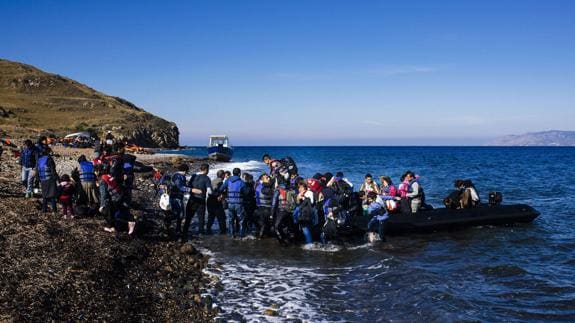
[[[182,144],[481,144],[575,130],[575,1],[1,1],[0,57]]]

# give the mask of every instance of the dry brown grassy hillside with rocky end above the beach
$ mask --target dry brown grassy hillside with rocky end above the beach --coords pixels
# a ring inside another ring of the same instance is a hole
[[[0,128],[13,136],[110,130],[146,147],[175,148],[175,123],[69,78],[0,59]]]

